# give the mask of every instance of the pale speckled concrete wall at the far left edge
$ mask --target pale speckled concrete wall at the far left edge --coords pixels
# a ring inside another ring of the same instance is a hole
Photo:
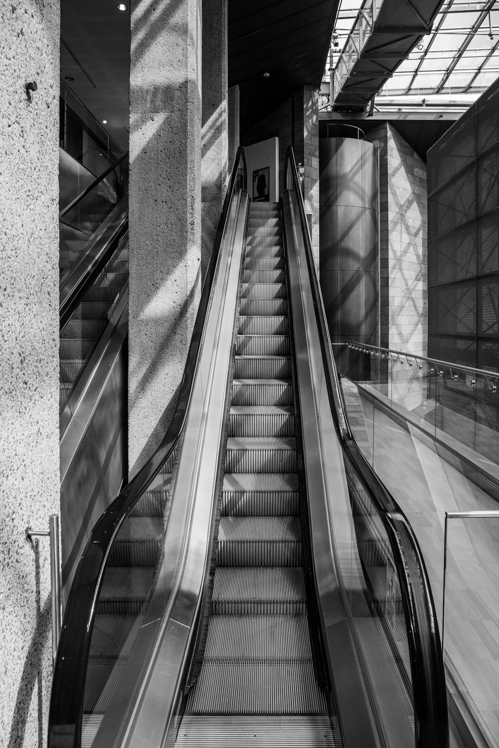
[[[31,101],[25,81],[36,80]],[[58,0],[0,7],[0,745],[45,744],[59,511]]]

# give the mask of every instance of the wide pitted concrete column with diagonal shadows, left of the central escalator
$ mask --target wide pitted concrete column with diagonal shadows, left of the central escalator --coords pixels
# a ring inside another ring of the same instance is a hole
[[[170,423],[200,291],[201,4],[131,3],[129,465]]]

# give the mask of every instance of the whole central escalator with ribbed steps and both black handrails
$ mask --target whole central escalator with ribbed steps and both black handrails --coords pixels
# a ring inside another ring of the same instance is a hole
[[[239,148],[174,418],[76,568],[50,748],[448,746],[426,571],[351,439],[289,168],[248,203]]]

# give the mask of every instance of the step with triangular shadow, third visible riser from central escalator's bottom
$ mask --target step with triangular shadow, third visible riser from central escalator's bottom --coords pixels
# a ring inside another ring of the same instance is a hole
[[[297,515],[296,473],[225,473],[222,515]]]

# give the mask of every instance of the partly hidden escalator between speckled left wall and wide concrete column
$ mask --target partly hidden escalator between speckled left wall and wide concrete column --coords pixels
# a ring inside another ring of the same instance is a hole
[[[126,476],[128,155],[59,214],[62,599]]]

